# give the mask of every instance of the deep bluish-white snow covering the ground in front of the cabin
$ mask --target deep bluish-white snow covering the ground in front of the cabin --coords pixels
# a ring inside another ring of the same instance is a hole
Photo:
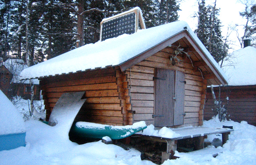
[[[62,132],[40,121],[25,122],[27,136],[26,147],[19,147],[8,151],[0,151],[1,165],[153,165],[148,160],[141,160],[140,152],[135,149],[124,150],[113,144],[101,141],[78,145],[63,138]],[[234,127],[229,135],[229,141],[224,144],[222,151],[216,158],[211,154],[178,153],[181,158],[167,160],[164,165],[255,165],[256,164],[256,127],[247,122],[234,121],[219,122],[210,120],[204,122],[207,127]],[[221,136],[209,135],[209,141]],[[213,146],[211,146],[213,148]],[[14,157],[15,155],[15,157]]]

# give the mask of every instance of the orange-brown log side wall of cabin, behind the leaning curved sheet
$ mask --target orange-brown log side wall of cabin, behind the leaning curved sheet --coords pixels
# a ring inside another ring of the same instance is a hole
[[[86,91],[87,100],[77,115],[76,121],[110,125],[127,124],[123,121],[123,109],[120,106],[123,102],[120,100],[120,95],[123,94],[119,92],[124,90],[120,89],[119,81],[120,74],[113,68],[42,79],[47,119],[62,93]]]

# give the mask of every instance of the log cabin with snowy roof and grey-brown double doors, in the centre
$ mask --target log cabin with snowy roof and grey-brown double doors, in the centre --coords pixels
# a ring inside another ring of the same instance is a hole
[[[207,85],[227,84],[183,21],[81,46],[20,76],[40,80],[47,119],[63,93],[85,91],[76,121],[156,127],[203,125]]]

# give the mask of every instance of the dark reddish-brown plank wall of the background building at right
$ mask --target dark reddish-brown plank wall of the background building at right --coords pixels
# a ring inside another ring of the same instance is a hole
[[[216,98],[218,87],[214,88]],[[226,97],[229,97],[227,105]],[[213,96],[210,88],[207,89],[206,105],[204,109],[204,120],[210,120],[214,112]],[[256,126],[256,85],[250,86],[227,86],[221,87],[221,101],[227,107],[227,119],[236,122],[247,121],[248,124]]]

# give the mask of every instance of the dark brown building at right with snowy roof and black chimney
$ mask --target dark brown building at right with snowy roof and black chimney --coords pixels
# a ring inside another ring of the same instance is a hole
[[[234,51],[223,61],[223,70],[229,77],[228,84],[220,87],[220,100],[227,109],[227,119],[246,121],[256,125],[256,48],[250,46],[250,39],[244,40],[244,48]],[[219,87],[214,87],[216,96]],[[228,97],[228,100],[226,99]],[[217,96],[218,99],[218,96]],[[211,89],[207,89],[205,120],[214,115],[214,100]]]

